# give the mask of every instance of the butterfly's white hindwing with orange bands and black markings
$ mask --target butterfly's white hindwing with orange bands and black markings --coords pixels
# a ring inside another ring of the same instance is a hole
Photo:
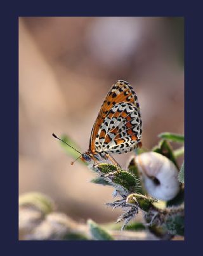
[[[96,151],[113,154],[128,152],[141,139],[141,120],[133,104],[122,103],[114,106],[115,114],[107,115],[95,140]],[[117,116],[117,118],[115,118]]]

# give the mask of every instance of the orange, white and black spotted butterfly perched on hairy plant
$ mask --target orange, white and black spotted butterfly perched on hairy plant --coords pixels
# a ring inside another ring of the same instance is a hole
[[[141,126],[140,104],[136,93],[128,82],[118,80],[101,105],[91,130],[89,149],[83,154],[77,151],[81,154],[79,158],[94,164],[109,159],[117,165],[110,154],[122,154],[141,147]],[[53,136],[58,138],[55,134]]]

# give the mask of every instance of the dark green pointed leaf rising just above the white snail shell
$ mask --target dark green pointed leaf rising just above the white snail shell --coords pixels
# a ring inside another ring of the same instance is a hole
[[[179,168],[176,162],[176,158],[174,157],[173,154],[173,149],[169,142],[167,142],[166,140],[160,140],[159,145],[155,146],[154,149],[152,149],[152,151],[162,154],[163,156],[166,156],[166,158],[171,160],[174,163],[174,165],[177,168]]]

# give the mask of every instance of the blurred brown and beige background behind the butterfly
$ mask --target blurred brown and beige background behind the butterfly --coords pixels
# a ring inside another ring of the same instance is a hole
[[[91,184],[95,174],[79,162],[71,166],[51,133],[86,151],[118,79],[138,95],[143,147],[161,132],[184,133],[183,32],[181,17],[19,18],[19,194],[43,192],[81,222],[115,221],[121,211],[105,206],[112,188]],[[131,154],[115,159],[125,168]]]

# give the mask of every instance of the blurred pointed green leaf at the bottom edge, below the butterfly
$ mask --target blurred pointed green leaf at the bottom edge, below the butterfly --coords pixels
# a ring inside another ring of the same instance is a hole
[[[114,238],[108,234],[105,229],[101,228],[98,224],[93,222],[93,220],[88,220],[88,226],[94,240],[114,240]]]

